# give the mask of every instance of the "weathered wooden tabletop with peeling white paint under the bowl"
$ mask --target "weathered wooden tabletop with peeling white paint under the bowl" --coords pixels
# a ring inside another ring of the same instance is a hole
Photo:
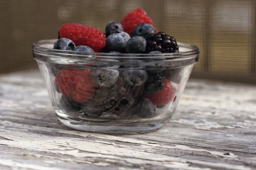
[[[62,125],[37,70],[0,75],[0,169],[256,169],[256,86],[190,79],[150,133]]]

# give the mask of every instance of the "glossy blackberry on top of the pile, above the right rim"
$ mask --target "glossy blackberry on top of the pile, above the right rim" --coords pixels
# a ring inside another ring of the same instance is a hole
[[[165,34],[164,32],[158,32],[156,34],[150,34],[147,37],[146,52],[160,51],[162,53],[177,53],[179,52],[179,46],[174,37]]]

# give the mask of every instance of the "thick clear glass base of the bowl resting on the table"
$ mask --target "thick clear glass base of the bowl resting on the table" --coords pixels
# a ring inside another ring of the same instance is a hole
[[[146,132],[157,130],[164,126],[168,120],[162,122],[143,122],[143,123],[98,123],[92,121],[77,121],[61,118],[61,123],[80,131],[95,132],[102,134],[127,134],[136,132]]]

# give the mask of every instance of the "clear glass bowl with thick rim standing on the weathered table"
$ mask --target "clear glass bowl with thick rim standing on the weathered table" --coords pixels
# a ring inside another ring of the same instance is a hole
[[[152,131],[174,114],[198,47],[178,43],[179,53],[111,54],[54,50],[57,39],[33,44],[58,119],[98,133]]]

